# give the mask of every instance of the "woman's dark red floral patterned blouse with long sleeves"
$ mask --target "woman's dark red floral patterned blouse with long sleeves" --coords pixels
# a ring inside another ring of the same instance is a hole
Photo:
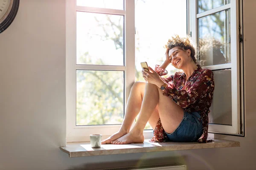
[[[166,70],[156,65],[155,71],[159,76],[167,74]],[[200,65],[185,82],[186,75],[183,72],[176,72],[170,77],[163,78],[168,87],[163,91],[164,96],[169,96],[177,105],[180,105],[186,112],[201,112],[201,121],[203,124],[203,134],[198,142],[207,141],[208,136],[208,113],[212,103],[214,91],[213,72],[209,69],[202,69]],[[167,137],[164,133],[161,120],[157,122],[154,130],[154,137],[150,142],[166,142]]]

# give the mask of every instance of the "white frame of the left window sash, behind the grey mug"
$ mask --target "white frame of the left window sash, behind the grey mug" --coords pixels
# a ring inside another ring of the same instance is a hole
[[[89,141],[89,134],[97,133],[110,136],[121,125],[76,126],[76,70],[112,70],[125,72],[125,103],[131,86],[135,81],[135,19],[134,1],[125,0],[125,10],[76,6],[76,0],[66,0],[66,105],[67,105],[67,142]],[[124,66],[77,65],[76,64],[76,11],[119,14],[124,16]],[[135,121],[134,121],[135,122]]]

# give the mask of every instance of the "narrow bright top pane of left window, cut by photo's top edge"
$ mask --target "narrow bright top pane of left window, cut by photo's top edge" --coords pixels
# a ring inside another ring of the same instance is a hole
[[[76,5],[124,10],[123,0],[76,0]]]

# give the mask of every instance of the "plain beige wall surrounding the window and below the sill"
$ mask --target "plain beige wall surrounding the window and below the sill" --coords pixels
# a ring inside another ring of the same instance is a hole
[[[244,1],[247,136],[224,136],[241,147],[69,158],[59,149],[66,127],[65,0],[20,0],[17,17],[0,34],[0,169],[89,170],[157,161],[181,161],[189,170],[256,169],[256,1]]]

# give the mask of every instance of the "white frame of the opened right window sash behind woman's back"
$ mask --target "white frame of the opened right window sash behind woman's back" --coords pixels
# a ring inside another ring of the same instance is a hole
[[[198,42],[198,18],[215,14],[220,11],[230,9],[231,25],[231,63],[221,65],[211,65],[203,68],[219,70],[231,68],[231,91],[232,91],[232,125],[209,124],[209,133],[244,135],[244,88],[243,88],[243,56],[242,42],[239,42],[239,35],[242,33],[241,11],[239,5],[241,0],[230,0],[230,4],[197,13],[197,0],[189,0],[190,6],[190,29],[192,40]],[[239,27],[240,25],[240,27]],[[240,28],[240,29],[239,29]],[[240,68],[241,67],[241,68]],[[218,96],[213,96],[218,97]]]

